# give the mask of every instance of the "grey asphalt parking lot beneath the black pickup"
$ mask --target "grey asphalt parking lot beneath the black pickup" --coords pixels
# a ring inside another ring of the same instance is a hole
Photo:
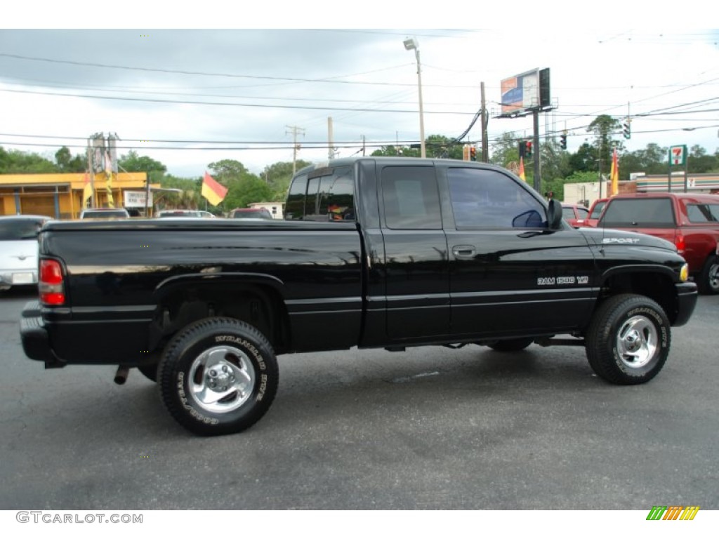
[[[270,412],[219,438],[139,372],[26,359],[32,298],[0,296],[3,510],[719,509],[719,296],[648,384],[607,384],[569,347],[280,356]]]

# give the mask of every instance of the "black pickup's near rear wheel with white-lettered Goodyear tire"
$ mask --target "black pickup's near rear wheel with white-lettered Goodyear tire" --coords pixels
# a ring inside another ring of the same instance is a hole
[[[267,338],[234,318],[205,318],[175,335],[160,359],[162,400],[183,427],[237,433],[265,415],[278,387]]]

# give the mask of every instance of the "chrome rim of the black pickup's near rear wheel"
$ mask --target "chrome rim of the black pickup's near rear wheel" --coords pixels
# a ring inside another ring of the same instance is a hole
[[[255,367],[234,346],[214,346],[191,364],[188,393],[202,410],[227,413],[241,407],[255,387]]]

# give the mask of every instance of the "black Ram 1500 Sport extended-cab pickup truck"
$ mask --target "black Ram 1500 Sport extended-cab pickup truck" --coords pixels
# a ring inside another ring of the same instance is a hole
[[[25,354],[119,383],[137,367],[203,435],[265,414],[275,354],[578,345],[608,382],[647,382],[697,300],[674,244],[574,229],[507,170],[454,160],[306,167],[282,221],[55,221],[39,242]]]

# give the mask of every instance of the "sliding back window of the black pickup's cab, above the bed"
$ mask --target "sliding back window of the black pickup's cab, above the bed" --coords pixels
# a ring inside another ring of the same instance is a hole
[[[289,221],[354,221],[352,167],[326,167],[298,175],[285,205]]]

